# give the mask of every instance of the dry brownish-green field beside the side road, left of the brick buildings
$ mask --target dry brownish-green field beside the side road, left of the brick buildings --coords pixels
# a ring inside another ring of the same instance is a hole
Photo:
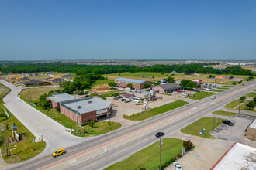
[[[22,99],[26,99],[29,101],[37,100],[44,93],[49,93],[51,90],[63,90],[60,87],[40,87],[40,88],[29,88],[23,89],[20,93]]]

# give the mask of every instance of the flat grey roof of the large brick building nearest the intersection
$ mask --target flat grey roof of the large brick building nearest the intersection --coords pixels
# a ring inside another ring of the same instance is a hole
[[[111,102],[108,100],[103,100],[98,97],[87,97],[84,99],[74,99],[61,102],[61,106],[67,108],[68,110],[78,112],[80,114],[85,114],[95,110],[102,110],[109,108]]]

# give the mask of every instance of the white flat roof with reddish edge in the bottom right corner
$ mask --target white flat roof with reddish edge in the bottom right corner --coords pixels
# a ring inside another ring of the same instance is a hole
[[[241,143],[234,143],[229,150],[220,158],[213,169],[254,169],[256,168],[256,148],[244,145]]]

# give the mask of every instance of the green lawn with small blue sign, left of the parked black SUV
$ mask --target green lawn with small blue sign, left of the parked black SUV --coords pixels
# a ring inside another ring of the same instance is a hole
[[[214,138],[211,134],[209,134],[209,131],[213,131],[213,120],[213,117],[202,117],[185,128],[182,128],[181,131],[185,134],[192,134],[204,138]],[[215,128],[220,124],[222,124],[222,119],[218,118],[218,122],[215,122]],[[200,134],[203,128],[205,128],[205,135]]]

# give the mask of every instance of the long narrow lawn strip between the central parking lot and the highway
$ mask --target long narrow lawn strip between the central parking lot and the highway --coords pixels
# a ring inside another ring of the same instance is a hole
[[[186,101],[182,101],[182,100],[176,100],[176,101],[174,101],[170,104],[164,104],[160,107],[154,107],[153,109],[148,110],[148,113],[145,110],[144,114],[137,113],[137,114],[133,114],[133,115],[130,115],[130,116],[127,116],[126,114],[124,114],[123,118],[134,120],[134,121],[142,121],[142,120],[147,119],[149,117],[154,117],[158,114],[163,114],[163,113],[165,113],[169,110],[173,110],[175,108],[182,107],[185,104],[189,104],[189,103],[186,102]]]

